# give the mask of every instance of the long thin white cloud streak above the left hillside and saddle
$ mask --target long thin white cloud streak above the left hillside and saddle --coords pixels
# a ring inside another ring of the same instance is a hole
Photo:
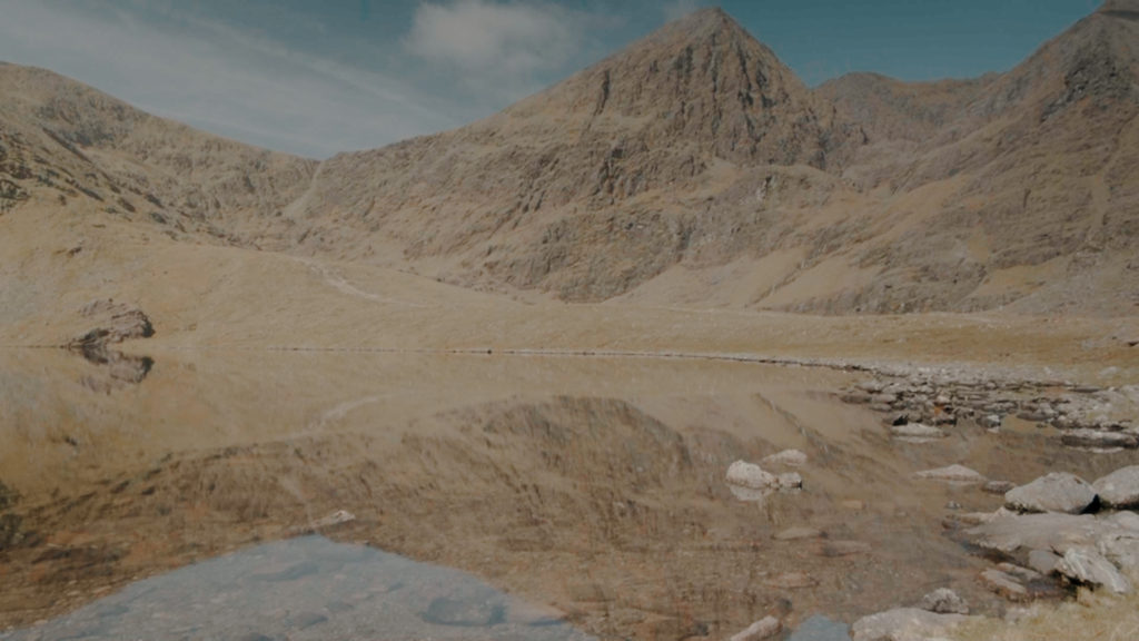
[[[138,0],[15,0],[0,22],[0,58],[82,78],[158,115],[304,155],[460,123],[436,107],[437,98],[399,78],[189,15],[155,19],[154,10]]]

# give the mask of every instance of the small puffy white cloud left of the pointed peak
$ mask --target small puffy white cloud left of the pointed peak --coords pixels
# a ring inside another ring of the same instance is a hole
[[[590,16],[547,2],[421,2],[404,44],[484,94],[521,97],[585,47]]]

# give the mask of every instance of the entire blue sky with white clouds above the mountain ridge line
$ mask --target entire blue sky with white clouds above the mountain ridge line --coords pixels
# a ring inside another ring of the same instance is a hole
[[[804,82],[1007,71],[1097,0],[723,0]],[[699,0],[0,0],[0,60],[310,157],[487,116]]]

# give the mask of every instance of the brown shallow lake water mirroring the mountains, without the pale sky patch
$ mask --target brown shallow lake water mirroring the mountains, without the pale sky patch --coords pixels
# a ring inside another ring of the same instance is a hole
[[[1040,430],[962,424],[936,443],[898,443],[880,416],[837,399],[859,374],[821,368],[149,356],[139,379],[56,351],[0,352],[0,482],[19,494],[0,550],[0,628],[312,533],[472,573],[538,619],[601,638],[724,636],[769,614],[792,627],[813,615],[850,623],[943,586],[993,611],[1002,602],[977,582],[988,562],[945,521],[1000,498],[915,472],[962,463],[1025,482],[1136,462],[1065,449]],[[802,490],[741,501],[724,484],[734,461],[790,447],[809,457],[795,469]],[[327,519],[338,511],[353,518]],[[819,535],[777,537],[793,527]],[[306,581],[338,571],[318,565]],[[268,607],[224,573],[195,576],[204,594]],[[417,602],[420,615],[431,602]],[[327,602],[304,611],[335,620]],[[192,608],[177,615],[199,626],[187,638],[232,638]],[[392,625],[398,635],[408,624]]]

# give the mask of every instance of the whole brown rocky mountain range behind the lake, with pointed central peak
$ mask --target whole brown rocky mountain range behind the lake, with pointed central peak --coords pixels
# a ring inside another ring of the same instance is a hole
[[[707,9],[484,121],[319,165],[2,66],[0,206],[80,198],[175,240],[567,301],[1132,315],[1137,15],[1109,2],[1003,74],[809,90]]]

